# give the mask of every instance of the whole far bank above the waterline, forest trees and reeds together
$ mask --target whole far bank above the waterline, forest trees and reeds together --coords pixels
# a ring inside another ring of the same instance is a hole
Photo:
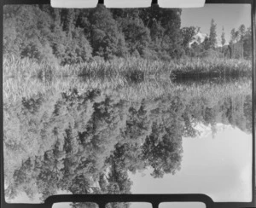
[[[251,27],[182,27],[182,9],[5,6],[4,77],[249,77]],[[44,20],[44,21],[42,21]],[[196,23],[195,23],[196,24]],[[221,41],[220,41],[221,40]],[[221,42],[221,43],[220,43]]]

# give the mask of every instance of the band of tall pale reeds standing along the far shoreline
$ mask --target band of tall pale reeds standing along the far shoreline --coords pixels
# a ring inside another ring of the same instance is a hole
[[[169,78],[224,78],[252,76],[251,61],[237,59],[184,58],[173,61],[154,61],[142,58],[103,59],[74,64],[49,65],[29,59],[3,58],[4,78],[63,78],[63,77],[122,77],[141,82],[147,76]]]

